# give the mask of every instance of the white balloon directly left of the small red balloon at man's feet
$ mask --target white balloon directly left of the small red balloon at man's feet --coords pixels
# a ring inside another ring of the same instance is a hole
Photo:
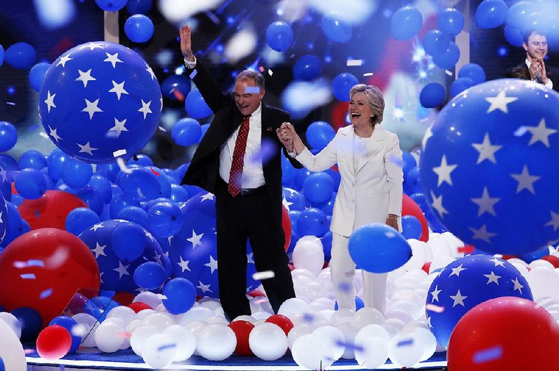
[[[235,333],[224,324],[209,324],[196,337],[196,351],[210,361],[223,361],[233,354],[236,346]]]

